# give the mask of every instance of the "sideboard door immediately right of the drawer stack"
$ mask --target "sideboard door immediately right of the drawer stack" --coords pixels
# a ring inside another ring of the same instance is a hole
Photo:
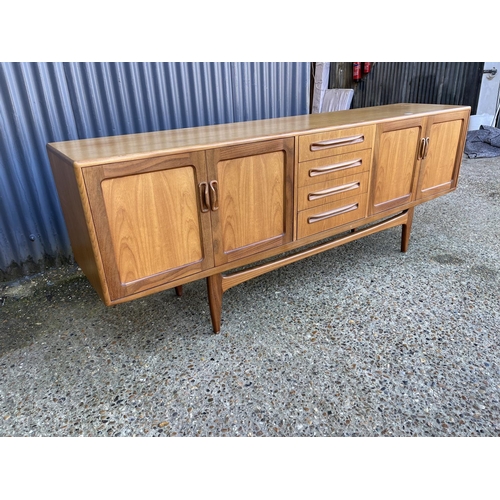
[[[370,189],[371,214],[413,201],[422,138],[421,118],[378,125]]]

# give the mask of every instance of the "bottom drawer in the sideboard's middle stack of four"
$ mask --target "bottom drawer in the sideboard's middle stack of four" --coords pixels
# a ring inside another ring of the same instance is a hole
[[[368,194],[351,196],[298,213],[297,237],[304,238],[366,216]]]

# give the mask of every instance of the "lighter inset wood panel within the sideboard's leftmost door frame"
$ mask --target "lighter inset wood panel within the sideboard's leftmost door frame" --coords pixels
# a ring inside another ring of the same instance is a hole
[[[106,179],[101,186],[122,283],[202,259],[192,167]]]

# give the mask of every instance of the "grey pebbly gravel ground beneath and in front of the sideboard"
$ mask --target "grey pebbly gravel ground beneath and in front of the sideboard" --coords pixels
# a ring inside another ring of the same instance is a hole
[[[499,436],[500,158],[400,228],[224,294],[0,284],[0,436]]]

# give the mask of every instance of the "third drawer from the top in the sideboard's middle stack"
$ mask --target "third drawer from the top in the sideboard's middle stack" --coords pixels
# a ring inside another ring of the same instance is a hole
[[[298,209],[307,210],[326,203],[357,196],[368,191],[369,172],[311,184],[299,189]]]

